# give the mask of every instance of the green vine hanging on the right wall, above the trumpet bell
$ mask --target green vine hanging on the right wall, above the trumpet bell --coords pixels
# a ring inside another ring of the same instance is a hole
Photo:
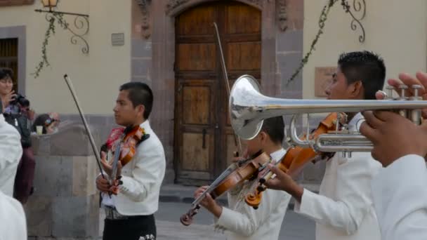
[[[317,41],[319,41],[320,35],[323,34],[324,25],[327,20],[329,11],[337,1],[339,0],[329,0],[327,4],[323,7],[322,13],[320,13],[320,18],[319,18],[319,30],[317,31],[315,39],[313,39],[313,42],[311,43],[310,50],[308,51],[308,53],[306,53],[304,58],[301,60],[301,63],[298,66],[298,68],[295,70],[294,74],[292,74],[292,76],[286,81],[286,86],[289,86],[291,81],[294,81],[296,76],[301,72],[301,69],[303,69],[303,67],[307,64],[308,58],[310,58],[310,55],[313,53],[313,51],[316,50],[315,46],[317,44]],[[343,3],[345,2],[345,0],[341,0],[341,1],[343,1]]]

